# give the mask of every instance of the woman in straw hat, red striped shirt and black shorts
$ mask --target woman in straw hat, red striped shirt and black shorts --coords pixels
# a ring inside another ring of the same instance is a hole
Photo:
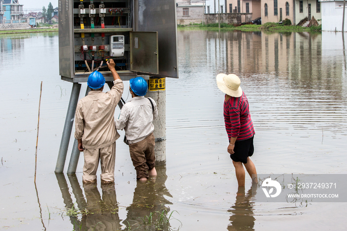
[[[243,165],[251,176],[252,182],[257,182],[257,171],[249,158],[254,152],[253,137],[255,132],[249,114],[248,100],[240,87],[240,79],[234,74],[218,74],[217,86],[226,93],[224,121],[230,141],[228,152],[235,167],[238,186],[244,187]]]

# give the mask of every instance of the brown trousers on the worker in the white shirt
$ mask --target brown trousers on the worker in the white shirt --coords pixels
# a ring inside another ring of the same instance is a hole
[[[153,133],[144,140],[129,144],[130,157],[136,170],[137,179],[141,177],[149,178],[147,171],[155,167],[154,145]]]

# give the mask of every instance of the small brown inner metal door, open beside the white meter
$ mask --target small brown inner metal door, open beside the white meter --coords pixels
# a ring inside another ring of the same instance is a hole
[[[130,70],[159,74],[158,32],[130,32]]]

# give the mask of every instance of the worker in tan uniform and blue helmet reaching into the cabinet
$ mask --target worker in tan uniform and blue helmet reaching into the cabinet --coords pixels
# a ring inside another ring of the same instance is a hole
[[[104,93],[104,76],[94,71],[88,77],[92,89],[76,108],[75,138],[78,150],[84,152],[83,183],[96,182],[99,159],[101,183],[115,181],[116,139],[115,108],[123,93],[124,85],[115,69],[113,59],[107,61],[114,78],[114,86]]]

